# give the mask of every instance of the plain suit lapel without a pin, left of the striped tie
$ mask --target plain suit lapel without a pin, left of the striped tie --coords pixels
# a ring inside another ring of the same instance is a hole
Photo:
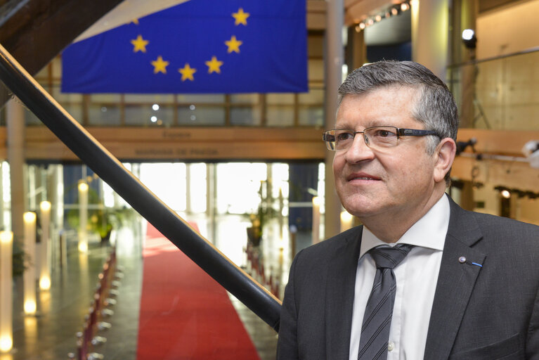
[[[348,360],[353,296],[363,226],[346,233],[346,242],[334,253],[327,269],[326,358]],[[331,241],[331,240],[328,240]]]

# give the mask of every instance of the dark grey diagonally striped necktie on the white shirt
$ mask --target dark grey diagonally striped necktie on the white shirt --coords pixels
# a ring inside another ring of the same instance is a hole
[[[412,245],[402,244],[394,248],[384,246],[370,250],[376,263],[376,276],[363,316],[358,360],[387,359],[389,328],[397,288],[393,268],[403,261],[412,248]]]

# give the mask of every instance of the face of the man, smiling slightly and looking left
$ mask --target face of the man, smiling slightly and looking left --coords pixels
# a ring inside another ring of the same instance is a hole
[[[335,128],[363,131],[386,125],[424,129],[411,115],[417,95],[417,90],[406,86],[346,95]],[[356,134],[351,147],[337,150],[333,159],[335,186],[346,210],[364,222],[377,216],[395,221],[422,216],[425,207],[433,205],[435,185],[436,153],[428,155],[426,143],[424,136],[401,136],[393,148],[372,150],[362,134]]]

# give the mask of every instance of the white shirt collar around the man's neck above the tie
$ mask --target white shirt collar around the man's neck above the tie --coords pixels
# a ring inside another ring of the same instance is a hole
[[[359,257],[361,258],[365,252],[379,245],[409,244],[442,251],[449,227],[449,213],[449,200],[446,195],[443,195],[427,214],[413,224],[396,243],[391,244],[384,243],[366,226],[363,226]]]

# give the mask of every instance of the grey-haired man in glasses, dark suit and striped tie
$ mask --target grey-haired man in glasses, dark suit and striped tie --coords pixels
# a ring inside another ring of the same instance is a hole
[[[339,97],[324,140],[363,226],[295,257],[278,359],[539,359],[539,227],[445,194],[458,124],[446,85],[384,61]]]

